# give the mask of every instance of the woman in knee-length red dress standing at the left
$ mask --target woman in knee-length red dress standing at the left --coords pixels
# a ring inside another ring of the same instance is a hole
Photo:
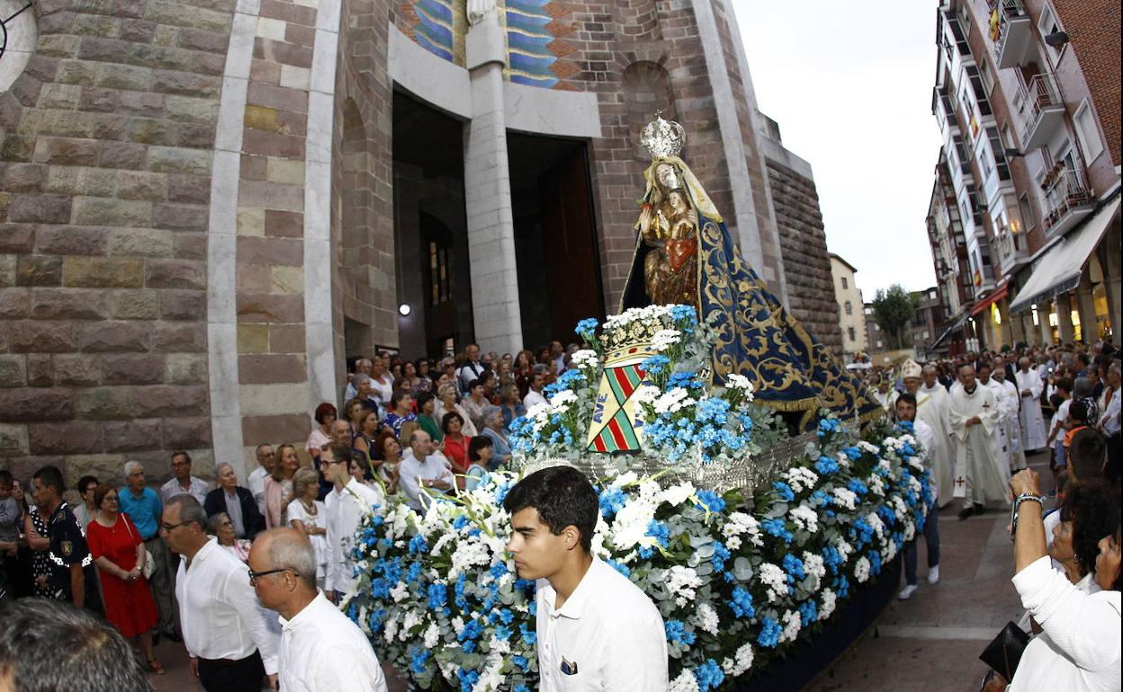
[[[117,510],[117,488],[109,483],[98,486],[93,491],[93,506],[98,514],[85,529],[85,541],[101,573],[106,619],[126,639],[137,637],[148,668],[163,675],[164,666],[152,648],[152,630],[158,616],[143,571],[144,541],[128,515]]]

